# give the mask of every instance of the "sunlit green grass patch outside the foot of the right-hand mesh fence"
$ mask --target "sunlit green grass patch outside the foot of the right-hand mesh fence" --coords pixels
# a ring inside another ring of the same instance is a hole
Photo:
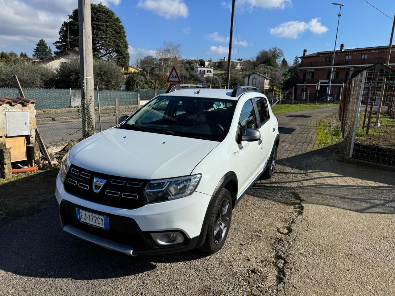
[[[342,141],[340,122],[336,115],[320,121],[317,127],[316,149],[339,144]]]

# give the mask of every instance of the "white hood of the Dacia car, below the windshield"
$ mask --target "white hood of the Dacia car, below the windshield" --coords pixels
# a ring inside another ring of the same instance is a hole
[[[189,175],[220,142],[111,128],[70,152],[71,163],[94,172],[139,179]]]

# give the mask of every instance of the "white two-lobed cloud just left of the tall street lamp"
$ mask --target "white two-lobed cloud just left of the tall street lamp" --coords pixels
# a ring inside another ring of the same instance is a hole
[[[329,29],[323,26],[321,22],[319,22],[319,19],[312,19],[308,23],[299,21],[284,22],[275,28],[269,29],[270,34],[275,35],[276,37],[293,39],[298,38],[299,34],[305,32],[306,30],[310,30],[314,34],[322,34]]]

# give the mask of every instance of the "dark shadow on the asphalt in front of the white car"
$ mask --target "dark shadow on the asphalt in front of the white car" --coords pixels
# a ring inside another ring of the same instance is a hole
[[[63,232],[57,204],[0,228],[0,269],[16,275],[75,280],[107,279],[149,272],[156,262],[184,262],[207,256],[199,250],[132,257]]]

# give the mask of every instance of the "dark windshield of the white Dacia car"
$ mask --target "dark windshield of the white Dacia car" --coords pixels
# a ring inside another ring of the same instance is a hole
[[[231,100],[158,96],[120,128],[222,141],[235,104]]]

